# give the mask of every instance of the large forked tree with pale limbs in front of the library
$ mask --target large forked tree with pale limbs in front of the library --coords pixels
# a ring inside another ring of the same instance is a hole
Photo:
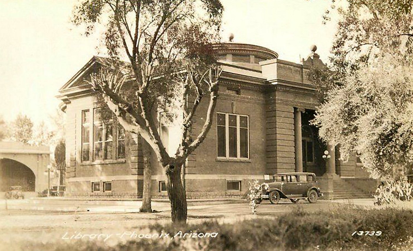
[[[222,12],[219,0],[83,0],[74,11],[73,22],[85,25],[86,35],[96,23],[106,24],[110,59],[91,75],[90,84],[123,128],[139,134],[164,167],[173,222],[186,222],[181,167],[207,136],[216,106],[221,71],[212,44],[219,41]],[[192,139],[193,117],[207,94],[207,115]],[[190,104],[188,97],[195,101]],[[159,112],[182,122],[182,140],[171,155],[158,131]]]

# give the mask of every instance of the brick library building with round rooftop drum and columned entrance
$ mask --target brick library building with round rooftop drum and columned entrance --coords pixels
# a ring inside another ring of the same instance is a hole
[[[326,199],[362,198],[374,191],[376,181],[356,155],[339,160],[337,147],[320,141],[310,123],[319,103],[307,72],[325,67],[315,46],[301,64],[257,45],[226,43],[216,50],[223,67],[219,96],[207,138],[183,168],[188,198],[241,198],[254,179],[271,182],[271,175],[285,172],[314,172]],[[66,113],[66,196],[139,198],[148,158],[152,197],[165,197],[166,176],[155,154],[144,153],[142,139],[116,121],[99,118],[95,94],[84,79],[101,65],[104,58],[93,57],[57,96]],[[197,120],[206,115],[202,104]],[[166,148],[176,146],[172,131],[160,127]],[[325,151],[331,158],[322,157]]]

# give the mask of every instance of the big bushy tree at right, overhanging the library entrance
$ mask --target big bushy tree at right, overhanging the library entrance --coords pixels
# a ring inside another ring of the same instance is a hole
[[[413,163],[412,8],[411,0],[348,0],[330,68],[311,73],[331,87],[314,121],[320,137],[379,176]]]

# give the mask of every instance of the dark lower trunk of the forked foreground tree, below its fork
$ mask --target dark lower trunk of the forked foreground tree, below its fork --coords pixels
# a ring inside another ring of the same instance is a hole
[[[171,218],[174,224],[186,224],[187,203],[186,193],[181,181],[182,164],[171,163],[166,166],[166,189],[171,201]]]

